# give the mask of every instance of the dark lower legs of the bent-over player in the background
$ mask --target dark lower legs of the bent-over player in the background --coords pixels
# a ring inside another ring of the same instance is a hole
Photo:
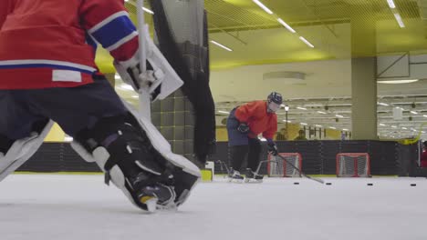
[[[261,156],[261,142],[257,138],[248,137],[248,145],[230,145],[229,162],[236,171],[240,171],[247,155],[247,168],[253,172],[259,165]]]

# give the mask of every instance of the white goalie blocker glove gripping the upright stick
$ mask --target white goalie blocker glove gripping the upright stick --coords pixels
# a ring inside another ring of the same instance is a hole
[[[128,61],[114,61],[117,73],[126,84],[132,86],[135,92],[143,91],[151,95],[151,101],[164,99],[183,85],[179,75],[161,54],[161,51],[151,40],[148,27],[144,27],[145,51],[147,69],[141,73],[139,53]],[[141,49],[140,49],[141,51]]]

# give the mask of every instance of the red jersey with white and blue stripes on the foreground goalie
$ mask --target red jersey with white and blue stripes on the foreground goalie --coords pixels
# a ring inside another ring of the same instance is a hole
[[[123,0],[1,0],[0,89],[89,84],[97,42],[137,61],[137,36]]]

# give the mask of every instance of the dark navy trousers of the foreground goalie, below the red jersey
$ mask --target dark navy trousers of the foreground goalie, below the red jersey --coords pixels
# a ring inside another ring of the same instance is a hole
[[[119,95],[100,75],[94,75],[93,84],[77,87],[0,90],[0,149],[30,135],[48,119],[75,136],[101,118],[126,112]]]

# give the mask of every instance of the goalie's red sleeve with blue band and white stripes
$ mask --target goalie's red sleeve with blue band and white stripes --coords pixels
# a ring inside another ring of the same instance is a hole
[[[116,61],[129,61],[138,51],[138,32],[123,0],[85,0],[80,7],[83,26]]]

